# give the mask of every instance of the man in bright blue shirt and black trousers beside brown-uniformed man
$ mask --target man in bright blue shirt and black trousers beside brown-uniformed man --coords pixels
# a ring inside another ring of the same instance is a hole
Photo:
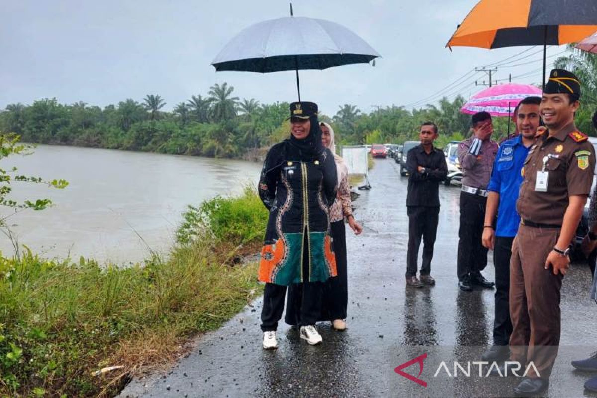
[[[510,320],[510,257],[512,242],[520,216],[516,212],[516,200],[524,177],[522,167],[527,159],[529,148],[535,142],[540,125],[540,97],[527,97],[518,107],[516,127],[518,137],[504,141],[497,152],[487,190],[487,207],[483,224],[483,246],[493,249],[493,264],[496,267],[496,294],[493,324],[493,345],[483,356],[483,360],[505,360],[509,357],[508,342],[512,334]],[[499,208],[498,208],[499,206]],[[497,212],[497,224],[494,220]]]

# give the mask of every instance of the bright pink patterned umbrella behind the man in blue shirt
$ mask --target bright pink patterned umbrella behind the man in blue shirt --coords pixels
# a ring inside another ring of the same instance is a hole
[[[488,112],[491,116],[508,117],[520,101],[531,95],[541,96],[541,89],[530,84],[506,83],[485,88],[473,95],[460,112],[474,115]]]

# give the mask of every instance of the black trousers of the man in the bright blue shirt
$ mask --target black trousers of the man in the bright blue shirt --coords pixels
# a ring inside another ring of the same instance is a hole
[[[513,237],[496,236],[493,264],[496,267],[496,293],[494,295],[493,344],[508,345],[512,335],[510,319],[510,258]]]

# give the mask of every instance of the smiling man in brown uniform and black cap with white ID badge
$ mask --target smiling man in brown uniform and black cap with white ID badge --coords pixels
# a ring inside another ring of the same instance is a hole
[[[589,195],[595,166],[593,146],[574,126],[580,82],[554,69],[539,107],[547,127],[531,147],[517,202],[521,226],[510,261],[512,360],[533,362],[528,378],[514,388],[534,396],[549,387],[558,354],[560,288],[570,266],[568,246]]]

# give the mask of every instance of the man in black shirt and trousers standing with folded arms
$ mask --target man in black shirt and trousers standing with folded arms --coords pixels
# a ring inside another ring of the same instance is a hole
[[[448,174],[444,152],[433,147],[438,138],[438,127],[432,122],[423,123],[419,133],[421,144],[407,154],[408,169],[408,255],[407,285],[420,288],[435,285],[430,275],[433,245],[438,230],[439,183]],[[418,248],[423,237],[423,266],[421,279],[417,279]]]

